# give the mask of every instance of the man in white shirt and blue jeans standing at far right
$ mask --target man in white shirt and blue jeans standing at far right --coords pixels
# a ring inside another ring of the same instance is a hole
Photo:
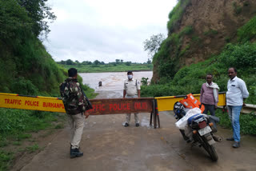
[[[234,148],[240,147],[240,124],[239,116],[244,104],[244,100],[249,97],[246,83],[237,77],[237,70],[234,67],[229,68],[228,74],[230,80],[227,82],[226,105],[232,122],[233,137],[226,138],[227,141],[234,141]]]

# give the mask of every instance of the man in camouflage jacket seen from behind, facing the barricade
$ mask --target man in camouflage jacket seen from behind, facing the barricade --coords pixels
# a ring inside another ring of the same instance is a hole
[[[68,70],[69,78],[66,79],[66,87],[64,89],[63,103],[65,105],[70,125],[70,157],[81,157],[82,152],[79,151],[79,143],[82,138],[85,117],[89,117],[86,112],[86,97],[82,94],[80,84],[78,83],[78,70],[70,68]]]

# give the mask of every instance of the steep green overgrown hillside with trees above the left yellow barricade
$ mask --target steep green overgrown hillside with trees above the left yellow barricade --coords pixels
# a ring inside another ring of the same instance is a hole
[[[50,13],[45,2],[0,1],[0,92],[58,95],[65,75],[37,38]]]

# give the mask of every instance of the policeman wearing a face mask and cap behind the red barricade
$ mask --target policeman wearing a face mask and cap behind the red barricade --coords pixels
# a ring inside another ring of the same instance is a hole
[[[136,98],[136,97],[141,97],[141,85],[140,82],[137,80],[133,79],[133,72],[128,71],[127,72],[127,78],[126,81],[124,82],[123,86],[123,98]],[[139,121],[138,121],[138,113],[134,113],[134,120],[135,120],[135,125],[139,126]],[[126,114],[126,123],[125,127],[129,126],[130,124],[130,113]]]

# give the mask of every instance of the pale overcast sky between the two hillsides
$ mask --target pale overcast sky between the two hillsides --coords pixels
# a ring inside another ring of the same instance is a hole
[[[146,62],[143,42],[167,35],[177,0],[48,0],[57,19],[44,45],[56,62]]]

